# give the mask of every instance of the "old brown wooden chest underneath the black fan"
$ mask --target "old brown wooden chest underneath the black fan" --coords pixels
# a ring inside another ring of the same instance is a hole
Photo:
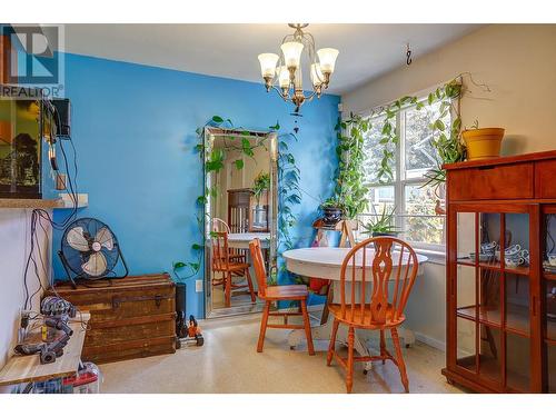
[[[60,282],[54,288],[91,314],[83,360],[102,364],[176,353],[176,286],[168,274],[89,281],[77,289]]]

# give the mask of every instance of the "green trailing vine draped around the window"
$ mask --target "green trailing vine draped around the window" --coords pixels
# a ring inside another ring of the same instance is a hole
[[[371,110],[370,115],[361,117],[350,115],[346,120],[339,120],[336,127],[339,166],[336,176],[335,196],[325,203],[340,207],[347,218],[355,218],[366,209],[368,187],[365,186],[365,133],[373,129],[373,118],[381,116],[380,139],[378,145],[380,161],[376,168],[375,177],[379,183],[394,180],[394,166],[396,147],[399,142],[399,132],[396,117],[400,110],[414,106],[421,110],[426,106],[438,105],[438,113],[429,125],[433,139],[431,146],[436,150],[436,167],[425,173],[427,179],[423,187],[431,186],[435,189],[446,181],[446,171],[441,168],[444,163],[464,161],[467,157],[466,147],[461,139],[461,115],[460,99],[464,93],[464,76],[468,76],[471,85],[484,91],[490,92],[488,86],[477,83],[471,73],[463,72],[449,82],[436,88],[425,100],[416,96],[401,97],[386,106],[379,106]],[[470,92],[470,91],[469,91]],[[450,115],[450,125],[444,122],[446,116]]]

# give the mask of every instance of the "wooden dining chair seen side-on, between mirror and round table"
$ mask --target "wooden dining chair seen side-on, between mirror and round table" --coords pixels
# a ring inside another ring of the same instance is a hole
[[[307,348],[309,355],[315,355],[315,348],[312,346],[311,327],[309,321],[309,315],[307,312],[307,297],[309,291],[307,286],[304,285],[288,285],[288,286],[267,286],[267,271],[265,268],[265,261],[262,258],[262,251],[260,250],[260,240],[254,239],[249,242],[249,249],[251,250],[252,266],[255,268],[255,276],[257,277],[257,284],[259,286],[258,296],[265,301],[265,309],[262,310],[262,319],[260,320],[260,332],[259,341],[257,344],[257,351],[262,351],[262,346],[265,345],[265,334],[267,328],[275,329],[305,329],[305,335],[307,337]],[[274,301],[299,301],[300,311],[270,311],[270,305]],[[269,324],[268,318],[270,316],[284,317],[284,324]],[[302,325],[288,324],[288,317],[290,316],[302,316]]]

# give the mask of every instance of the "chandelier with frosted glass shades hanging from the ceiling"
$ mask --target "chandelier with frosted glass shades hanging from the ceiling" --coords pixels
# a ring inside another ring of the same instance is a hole
[[[270,89],[276,90],[285,101],[290,101],[296,106],[295,113],[299,115],[299,108],[304,102],[312,100],[315,96],[320,98],[322,91],[328,88],[338,50],[322,48],[315,52],[315,38],[302,30],[309,24],[289,23],[288,26],[296,31],[282,39],[281,56],[261,53],[258,58],[267,92]],[[305,96],[301,76],[301,53],[304,51],[308,54],[310,62],[309,75],[312,92],[308,96]]]

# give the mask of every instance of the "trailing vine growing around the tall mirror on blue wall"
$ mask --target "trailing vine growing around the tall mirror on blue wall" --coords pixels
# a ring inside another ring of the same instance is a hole
[[[235,130],[239,132],[239,140],[235,137],[225,139],[224,147],[211,149],[208,151],[207,138],[205,138],[205,128],[215,127]],[[299,189],[300,170],[296,166],[296,159],[294,155],[289,151],[288,142],[291,140],[298,140],[297,136],[292,132],[290,133],[279,133],[280,123],[277,121],[275,126],[270,126],[269,130],[277,133],[278,137],[278,256],[281,255],[284,250],[291,249],[294,247],[292,238],[290,234],[291,227],[296,224],[296,216],[292,211],[292,206],[301,202],[301,193]],[[252,158],[255,155],[255,149],[258,147],[264,147],[265,139],[251,143],[248,139],[250,132],[241,127],[235,127],[230,119],[225,119],[220,116],[214,116],[209,121],[207,121],[202,127],[196,130],[198,137],[198,143],[195,149],[199,152],[199,157],[205,165],[205,172],[219,172],[224,168],[224,162],[226,160],[227,151],[239,151],[241,158],[234,161],[236,169],[244,169],[242,157]],[[210,221],[206,219],[205,216],[205,205],[208,202],[210,197],[216,197],[218,189],[216,186],[210,188],[203,186],[203,193],[196,199],[197,208],[197,227],[199,229],[199,239],[197,242],[191,245],[191,250],[195,254],[193,260],[190,261],[176,261],[172,264],[173,275],[178,281],[185,281],[189,278],[195,277],[202,265],[202,257],[205,254],[205,221]],[[276,277],[274,278],[276,279]]]

